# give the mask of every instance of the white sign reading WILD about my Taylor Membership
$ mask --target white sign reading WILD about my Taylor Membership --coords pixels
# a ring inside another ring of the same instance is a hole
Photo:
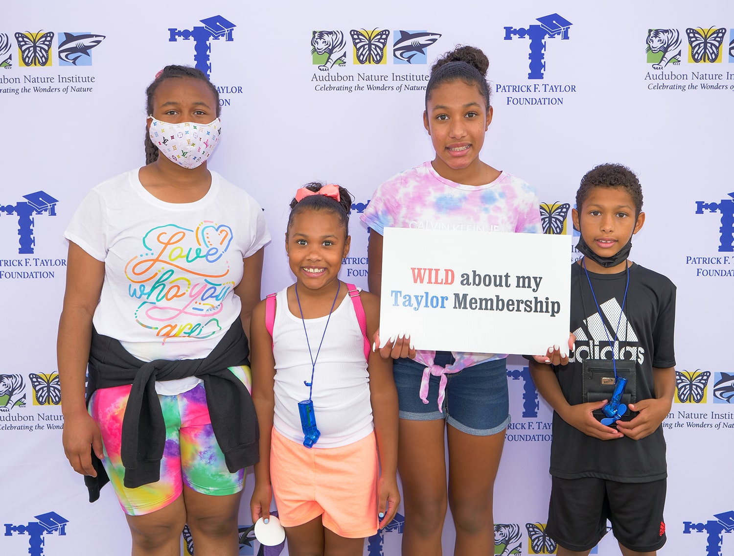
[[[418,350],[567,352],[566,235],[385,228],[380,337]]]

